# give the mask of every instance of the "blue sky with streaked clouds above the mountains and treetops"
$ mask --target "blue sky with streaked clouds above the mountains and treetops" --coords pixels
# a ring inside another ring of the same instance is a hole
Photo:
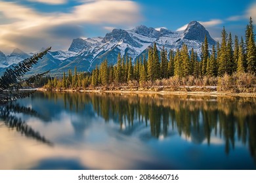
[[[67,50],[74,38],[104,37],[113,28],[182,31],[192,20],[215,40],[223,26],[241,37],[249,16],[255,23],[255,0],[0,0],[0,50]]]

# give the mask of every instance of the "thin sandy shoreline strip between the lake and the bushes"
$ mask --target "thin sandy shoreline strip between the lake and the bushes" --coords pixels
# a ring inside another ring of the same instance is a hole
[[[194,96],[211,96],[211,97],[256,97],[256,93],[234,93],[234,92],[205,92],[205,91],[150,91],[150,90],[47,90],[45,88],[37,88],[37,91],[41,92],[80,92],[80,93],[123,93],[123,94],[159,94],[159,95],[194,95]]]

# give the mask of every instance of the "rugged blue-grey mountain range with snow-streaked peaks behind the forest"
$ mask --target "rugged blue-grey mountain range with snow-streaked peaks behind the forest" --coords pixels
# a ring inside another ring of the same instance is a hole
[[[190,22],[184,31],[176,32],[163,28],[158,31],[144,25],[129,30],[113,29],[112,32],[106,33],[105,37],[74,39],[67,51],[49,52],[35,65],[33,71],[42,72],[51,69],[53,75],[60,75],[63,71],[74,69],[75,66],[77,71],[91,71],[104,59],[108,59],[109,64],[115,64],[119,53],[122,56],[127,54],[135,61],[143,54],[147,54],[148,47],[154,42],[158,50],[164,46],[168,52],[170,49],[177,50],[186,43],[188,50],[194,48],[200,54],[205,35],[211,48],[216,42],[205,27],[196,21]],[[0,67],[9,67],[28,56],[18,49],[15,49],[10,56],[0,52]]]

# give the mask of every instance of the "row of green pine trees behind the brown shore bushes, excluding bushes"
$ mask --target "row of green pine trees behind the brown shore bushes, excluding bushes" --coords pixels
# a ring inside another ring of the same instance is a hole
[[[68,71],[68,76],[64,72],[61,79],[50,79],[47,88],[87,88],[129,82],[138,82],[144,86],[146,82],[154,83],[156,80],[173,76],[202,78],[222,77],[234,73],[255,75],[256,46],[253,29],[253,20],[250,18],[246,26],[245,42],[243,37],[239,40],[235,36],[233,43],[231,33],[226,33],[223,27],[221,44],[218,41],[210,51],[205,36],[200,55],[193,48],[188,50],[186,44],[182,44],[180,49],[170,50],[168,54],[164,46],[159,51],[154,42],[153,46],[148,48],[148,56],[144,54],[143,58],[137,58],[135,63],[131,57],[121,57],[118,54],[116,65],[108,65],[108,60],[105,59],[99,66],[96,65],[91,73],[77,73],[75,67],[74,75],[72,70]]]

